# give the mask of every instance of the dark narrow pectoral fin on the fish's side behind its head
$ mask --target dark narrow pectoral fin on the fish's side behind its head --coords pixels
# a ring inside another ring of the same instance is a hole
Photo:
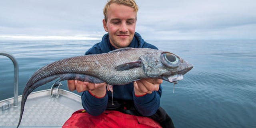
[[[132,69],[132,68],[138,68],[138,67],[141,67],[142,64],[141,64],[141,60],[138,60],[138,61],[135,61],[135,62],[129,62],[129,63],[124,63],[124,64],[121,64],[121,65],[118,65],[115,67],[115,69],[117,71],[123,71],[123,70],[129,70],[129,69]]]

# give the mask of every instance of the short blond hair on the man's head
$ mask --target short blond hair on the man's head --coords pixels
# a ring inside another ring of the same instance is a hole
[[[104,19],[106,22],[108,20],[108,17],[107,17],[108,8],[113,3],[129,6],[134,9],[134,12],[136,12],[136,14],[139,10],[138,5],[134,0],[109,0],[103,9]],[[137,19],[137,16],[136,16],[136,19]]]

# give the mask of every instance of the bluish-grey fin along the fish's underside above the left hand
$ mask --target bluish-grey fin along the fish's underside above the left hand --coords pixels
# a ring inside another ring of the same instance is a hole
[[[74,74],[74,73],[62,74],[60,76],[60,79],[57,82],[60,82],[63,80],[79,80],[79,81],[90,82],[90,83],[104,83],[103,80],[100,80],[99,78],[96,78],[94,76],[84,75],[84,74]]]

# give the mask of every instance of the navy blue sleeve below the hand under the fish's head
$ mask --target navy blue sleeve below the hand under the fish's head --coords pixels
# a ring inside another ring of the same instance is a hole
[[[160,97],[162,95],[162,86],[160,84],[158,91],[153,91],[151,94],[136,97],[133,91],[133,100],[136,110],[142,116],[152,116],[156,113],[160,106]]]

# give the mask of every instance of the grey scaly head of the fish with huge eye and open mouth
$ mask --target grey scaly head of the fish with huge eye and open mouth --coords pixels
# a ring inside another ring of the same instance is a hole
[[[179,56],[160,51],[140,57],[147,76],[160,78],[171,83],[177,83],[183,79],[183,75],[193,68],[193,65],[186,62]]]

